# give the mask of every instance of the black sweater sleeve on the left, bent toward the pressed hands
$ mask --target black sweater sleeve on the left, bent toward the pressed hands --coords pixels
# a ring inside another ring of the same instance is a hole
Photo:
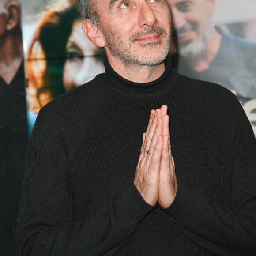
[[[17,255],[113,254],[154,207],[134,184],[75,219],[68,151],[56,117],[40,112],[30,139],[17,226]]]

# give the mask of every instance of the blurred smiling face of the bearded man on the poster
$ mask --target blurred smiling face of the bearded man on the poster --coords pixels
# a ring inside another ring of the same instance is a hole
[[[168,4],[177,32],[179,53],[186,57],[203,51],[212,35],[215,0],[168,0]]]

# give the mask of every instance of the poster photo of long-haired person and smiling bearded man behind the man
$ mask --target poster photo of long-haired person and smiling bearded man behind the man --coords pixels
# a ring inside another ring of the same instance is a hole
[[[173,22],[170,54],[181,74],[218,83],[236,94],[256,134],[256,3],[235,2],[168,0]],[[83,36],[76,4],[23,1],[30,132],[42,106],[104,72],[102,53]]]

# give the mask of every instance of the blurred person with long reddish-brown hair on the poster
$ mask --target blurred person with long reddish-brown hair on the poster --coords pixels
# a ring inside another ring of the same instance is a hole
[[[28,52],[29,130],[53,98],[105,71],[103,54],[84,37],[77,0],[59,0],[43,13]]]

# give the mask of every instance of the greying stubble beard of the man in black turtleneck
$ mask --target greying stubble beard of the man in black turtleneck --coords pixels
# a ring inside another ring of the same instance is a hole
[[[125,65],[139,66],[156,66],[161,64],[169,53],[171,45],[171,26],[169,34],[162,27],[147,27],[141,31],[134,32],[128,40],[124,40],[121,35],[118,35],[116,30],[103,31],[107,41],[107,46],[110,52],[121,60]],[[135,41],[138,38],[149,34],[159,34],[161,40],[137,44]],[[137,49],[133,47],[138,46]],[[162,46],[159,50],[159,47]],[[148,49],[148,53],[140,53],[141,49]]]

